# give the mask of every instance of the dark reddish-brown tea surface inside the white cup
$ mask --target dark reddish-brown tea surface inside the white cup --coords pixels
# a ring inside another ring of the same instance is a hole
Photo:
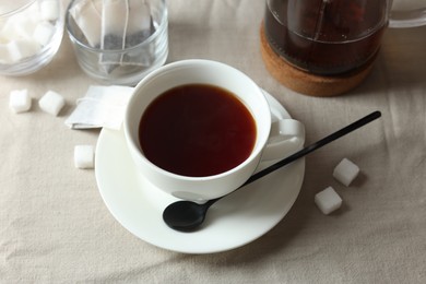
[[[144,111],[139,141],[147,159],[184,176],[212,176],[242,163],[256,141],[255,120],[226,90],[188,84],[154,99]]]

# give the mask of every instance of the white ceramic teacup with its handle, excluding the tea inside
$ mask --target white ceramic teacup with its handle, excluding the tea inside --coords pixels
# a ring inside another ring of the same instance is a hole
[[[169,173],[145,157],[139,141],[142,115],[164,92],[187,84],[225,88],[251,113],[257,130],[255,146],[248,158],[236,167],[217,175],[190,177]],[[126,141],[138,170],[158,189],[194,201],[232,192],[256,171],[261,161],[283,158],[305,142],[305,129],[299,121],[282,119],[271,123],[271,111],[263,92],[246,74],[224,63],[197,59],[166,64],[145,76],[134,88],[123,126]]]

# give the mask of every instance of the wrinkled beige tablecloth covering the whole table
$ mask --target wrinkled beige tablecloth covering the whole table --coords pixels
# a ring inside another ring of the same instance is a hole
[[[240,69],[305,123],[307,143],[372,110],[382,118],[308,156],[294,206],[264,236],[212,255],[164,250],[123,228],[95,170],[73,165],[74,145],[95,145],[99,131],[63,122],[98,83],[79,69],[66,35],[43,70],[0,76],[0,283],[425,283],[426,27],[388,29],[359,87],[316,98],[265,70],[264,1],[173,0],[168,8],[168,62],[203,58]],[[16,88],[29,90],[31,111],[9,109]],[[48,90],[66,97],[58,117],[37,105]],[[332,178],[343,157],[362,169],[348,188]],[[328,186],[343,206],[323,215],[313,197]]]

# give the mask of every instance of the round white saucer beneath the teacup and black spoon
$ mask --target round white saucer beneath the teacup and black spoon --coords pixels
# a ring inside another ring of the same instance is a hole
[[[289,118],[276,99],[265,95],[273,120]],[[142,240],[186,253],[234,249],[269,232],[296,201],[305,174],[301,158],[215,203],[199,230],[180,233],[162,218],[164,208],[177,199],[135,171],[123,131],[102,130],[95,163],[100,196],[114,217]]]

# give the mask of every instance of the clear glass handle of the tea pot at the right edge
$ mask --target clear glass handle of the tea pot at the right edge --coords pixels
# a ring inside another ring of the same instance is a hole
[[[391,11],[389,27],[414,27],[426,25],[426,7],[414,10]]]

